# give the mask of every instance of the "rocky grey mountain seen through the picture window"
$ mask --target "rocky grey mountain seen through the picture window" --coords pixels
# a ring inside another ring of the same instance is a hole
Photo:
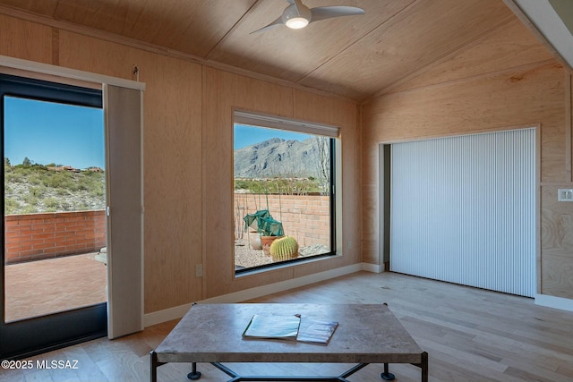
[[[235,150],[235,178],[319,177],[317,138],[273,138]]]

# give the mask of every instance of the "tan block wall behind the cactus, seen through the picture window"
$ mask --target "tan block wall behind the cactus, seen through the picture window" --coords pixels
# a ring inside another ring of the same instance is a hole
[[[268,195],[270,215],[282,222],[285,234],[300,246],[330,245],[329,196]],[[235,193],[235,236],[244,234],[243,217],[267,209],[265,195]]]

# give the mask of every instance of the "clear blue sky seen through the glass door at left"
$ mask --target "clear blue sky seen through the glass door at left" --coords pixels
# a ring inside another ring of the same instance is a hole
[[[105,168],[103,109],[4,97],[4,157]]]

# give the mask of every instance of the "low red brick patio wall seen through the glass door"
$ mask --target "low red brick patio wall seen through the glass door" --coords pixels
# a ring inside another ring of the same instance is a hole
[[[104,210],[5,216],[7,264],[98,251],[105,246]]]

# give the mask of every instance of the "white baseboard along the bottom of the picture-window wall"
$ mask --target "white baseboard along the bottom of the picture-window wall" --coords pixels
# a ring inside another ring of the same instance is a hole
[[[329,280],[330,278],[335,278],[338,276],[350,275],[352,273],[359,272],[361,270],[368,272],[381,273],[384,266],[376,264],[358,263],[347,267],[339,267],[336,269],[330,269],[328,271],[316,273],[309,276],[297,277],[292,280],[281,281],[275,284],[268,284],[263,286],[257,286],[255,288],[246,289],[244,291],[239,291],[235,293],[229,293],[218,297],[213,297],[210,299],[198,301],[201,303],[233,303],[246,300],[256,299],[258,297],[266,296],[272,293],[284,292],[289,289],[298,288],[299,286],[304,286],[308,284],[319,283],[324,280]],[[160,324],[162,322],[167,322],[172,319],[182,318],[187,310],[190,310],[192,303],[179,305],[174,308],[169,308],[166,310],[158,310],[152,313],[143,315],[143,326],[150,327],[152,325]]]

